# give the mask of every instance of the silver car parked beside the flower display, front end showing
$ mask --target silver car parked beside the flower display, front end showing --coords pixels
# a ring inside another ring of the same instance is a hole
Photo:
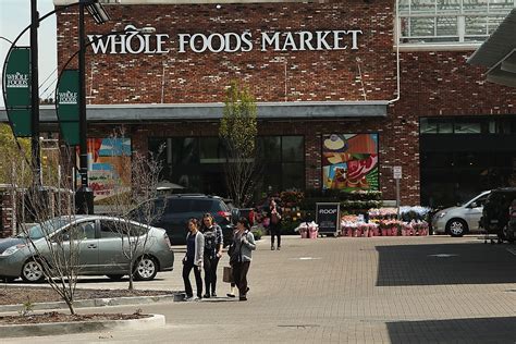
[[[438,211],[432,218],[433,233],[463,236],[467,233],[481,232],[479,220],[490,193],[490,191],[483,192],[463,205]]]

